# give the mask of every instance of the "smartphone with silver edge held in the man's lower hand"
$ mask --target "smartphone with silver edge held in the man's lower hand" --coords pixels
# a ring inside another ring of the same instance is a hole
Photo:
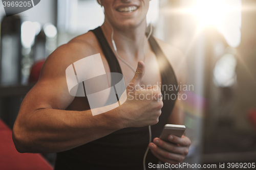
[[[184,125],[166,124],[163,128],[160,139],[166,142],[170,142],[168,140],[169,135],[175,135],[175,136],[181,137],[185,132],[185,130],[186,130],[186,127]]]

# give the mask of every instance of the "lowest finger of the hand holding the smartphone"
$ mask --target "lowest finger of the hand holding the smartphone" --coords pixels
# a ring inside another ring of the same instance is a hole
[[[178,155],[178,154],[174,154],[174,153],[170,153],[166,150],[161,149],[160,147],[158,147],[157,145],[155,145],[154,143],[150,143],[150,149],[155,151],[157,154],[159,154],[160,156],[164,157],[165,159],[171,159],[177,162],[181,162],[185,159],[185,156],[183,155]]]

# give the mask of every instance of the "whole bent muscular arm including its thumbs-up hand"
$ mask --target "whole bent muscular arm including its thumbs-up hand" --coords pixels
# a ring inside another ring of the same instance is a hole
[[[136,94],[160,94],[160,88],[145,90],[139,86],[145,72],[142,61],[138,62],[131,85],[126,88],[130,95],[121,106],[95,116],[91,110],[65,110],[74,100],[68,91],[66,68],[83,57],[99,53],[92,49],[69,43],[48,57],[38,82],[23,100],[13,126],[13,141],[18,152],[66,151],[122,128],[158,123],[162,100],[135,98]]]

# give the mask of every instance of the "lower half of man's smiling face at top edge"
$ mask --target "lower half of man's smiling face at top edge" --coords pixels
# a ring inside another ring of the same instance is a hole
[[[150,0],[101,0],[105,17],[117,29],[135,28],[146,20]]]

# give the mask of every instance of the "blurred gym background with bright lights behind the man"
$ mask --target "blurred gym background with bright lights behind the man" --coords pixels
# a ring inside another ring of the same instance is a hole
[[[256,162],[255,17],[254,0],[151,1],[153,35],[183,52],[194,87],[184,101],[192,141],[185,162]],[[0,118],[12,129],[45,59],[104,15],[96,0],[41,0],[9,17],[0,3],[0,20]],[[54,166],[55,154],[43,156]]]

